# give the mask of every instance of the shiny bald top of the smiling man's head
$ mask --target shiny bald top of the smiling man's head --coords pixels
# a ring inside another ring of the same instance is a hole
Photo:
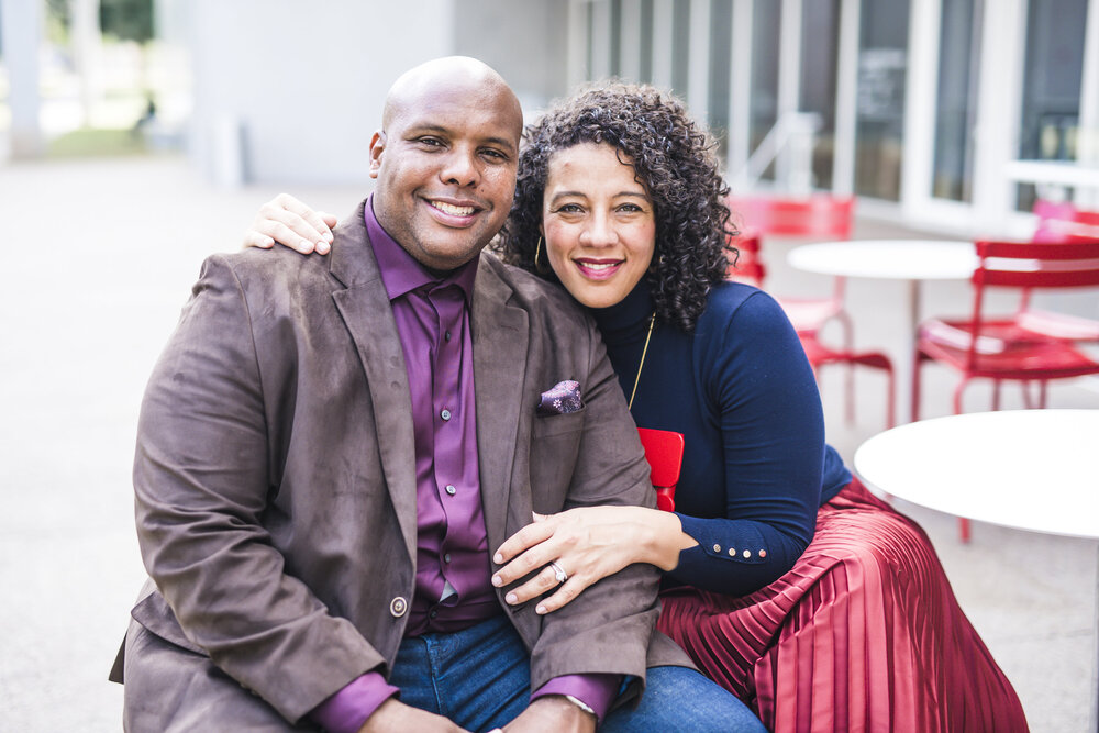
[[[523,111],[515,92],[496,69],[469,56],[434,58],[402,74],[386,95],[381,129],[388,130],[398,116],[415,112],[418,104],[442,90],[460,91],[493,105],[502,104],[514,119],[517,140],[522,134]]]

